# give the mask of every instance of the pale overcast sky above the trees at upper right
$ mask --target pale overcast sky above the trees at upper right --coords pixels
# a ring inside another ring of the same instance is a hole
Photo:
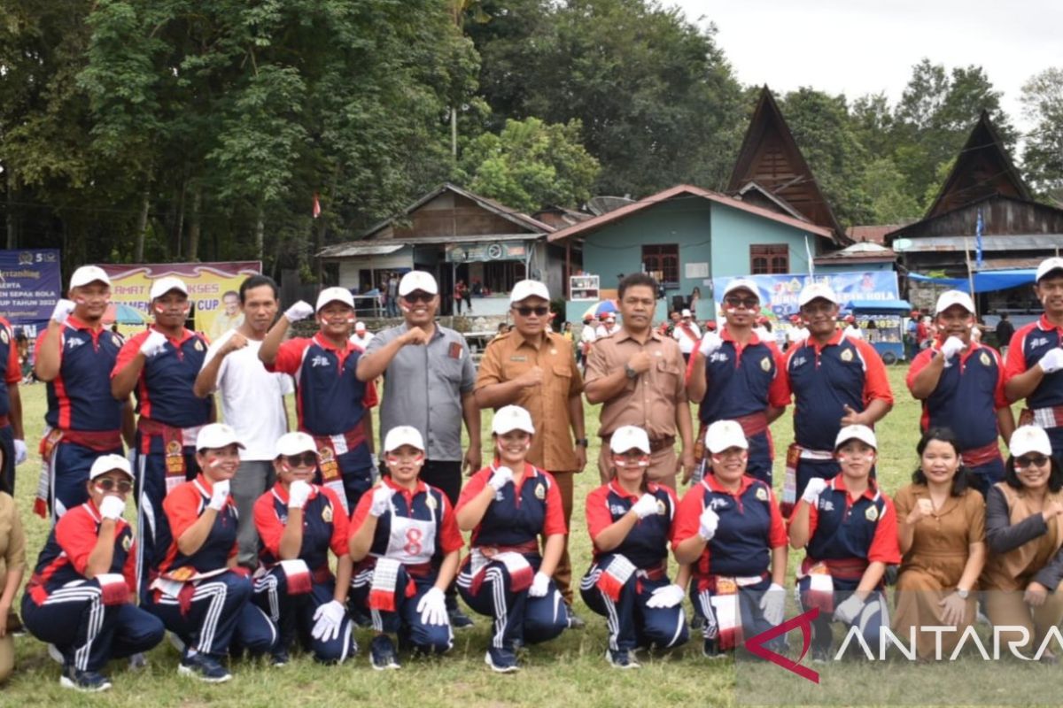
[[[849,98],[900,98],[923,57],[947,69],[980,65],[1003,107],[1028,129],[1019,89],[1034,73],[1063,67],[1063,1],[1024,0],[663,0],[716,41],[744,84],[776,92],[800,86]]]

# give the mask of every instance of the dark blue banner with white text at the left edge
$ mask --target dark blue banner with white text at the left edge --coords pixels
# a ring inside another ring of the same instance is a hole
[[[0,315],[33,339],[63,291],[57,248],[0,251]]]

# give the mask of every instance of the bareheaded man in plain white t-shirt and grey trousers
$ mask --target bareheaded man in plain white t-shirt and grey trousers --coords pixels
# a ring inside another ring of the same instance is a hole
[[[193,387],[201,398],[221,393],[225,422],[244,446],[231,489],[239,512],[237,563],[247,568],[258,564],[254,505],[276,481],[273,453],[277,438],[288,432],[284,396],[294,391],[287,374],[270,374],[258,360],[263,339],[276,318],[277,295],[276,283],[265,275],[252,275],[240,284],[243,323],[210,345]]]

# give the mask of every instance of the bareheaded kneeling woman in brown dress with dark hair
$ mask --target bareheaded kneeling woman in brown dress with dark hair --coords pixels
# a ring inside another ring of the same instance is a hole
[[[904,559],[897,579],[894,632],[904,640],[915,628],[921,659],[948,658],[976,617],[978,575],[985,563],[985,503],[967,488],[956,435],[931,428],[916,446],[919,467],[900,489],[898,535]],[[954,626],[937,638],[926,626]]]

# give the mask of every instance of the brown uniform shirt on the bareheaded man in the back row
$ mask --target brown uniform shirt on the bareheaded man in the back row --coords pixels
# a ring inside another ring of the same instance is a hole
[[[619,396],[602,404],[598,427],[602,437],[612,435],[621,426],[638,426],[652,441],[676,434],[676,407],[688,403],[687,365],[675,340],[654,330],[645,344],[639,344],[625,329],[595,340],[587,361],[587,382],[624,368],[628,360],[642,350],[653,360],[649,370],[634,381],[628,379]]]

